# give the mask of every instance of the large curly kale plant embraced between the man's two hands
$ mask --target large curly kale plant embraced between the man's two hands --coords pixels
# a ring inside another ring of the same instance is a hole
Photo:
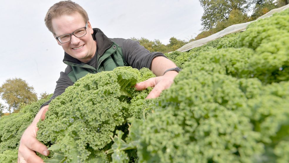
[[[145,101],[149,93],[135,91],[134,85],[151,77],[155,75],[147,68],[117,67],[88,74],[66,88],[49,104],[45,120],[37,124],[37,139],[54,151],[45,162],[106,162],[104,151],[111,148],[110,137],[126,118],[140,117],[141,111],[130,105],[138,106],[138,100]]]

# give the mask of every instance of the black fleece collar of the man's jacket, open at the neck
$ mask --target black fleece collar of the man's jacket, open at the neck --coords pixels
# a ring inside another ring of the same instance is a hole
[[[93,38],[93,40],[96,40],[96,44],[97,44],[97,48],[98,48],[97,54],[100,57],[113,44],[113,42],[98,28],[93,28],[92,38]],[[66,52],[64,52],[63,62],[64,61],[81,64],[81,62],[78,59],[71,57]]]

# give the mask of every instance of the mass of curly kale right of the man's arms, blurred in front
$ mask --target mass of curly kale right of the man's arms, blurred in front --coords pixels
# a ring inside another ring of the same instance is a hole
[[[288,12],[170,53],[189,54],[183,70],[145,119],[130,120],[139,162],[288,162]]]

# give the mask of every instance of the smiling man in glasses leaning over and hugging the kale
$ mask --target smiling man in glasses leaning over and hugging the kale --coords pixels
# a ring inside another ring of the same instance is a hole
[[[54,95],[59,96],[65,88],[87,73],[113,70],[118,66],[134,68],[148,67],[157,77],[136,84],[137,90],[154,87],[147,98],[158,97],[162,90],[170,87],[178,74],[176,65],[162,53],[149,52],[138,42],[130,39],[109,39],[100,29],[92,28],[86,11],[71,1],[61,1],[48,10],[45,17],[46,27],[65,51],[64,63],[68,66],[60,73]],[[36,139],[36,127],[43,120],[51,99],[41,106],[31,125],[23,133],[18,152],[18,162],[43,162],[36,155],[49,154],[47,147]]]

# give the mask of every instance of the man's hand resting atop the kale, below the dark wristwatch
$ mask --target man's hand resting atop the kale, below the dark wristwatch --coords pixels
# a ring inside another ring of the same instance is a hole
[[[150,78],[141,83],[137,83],[135,87],[136,90],[144,90],[148,87],[153,87],[153,90],[151,90],[146,99],[156,98],[160,96],[163,90],[168,89],[172,85],[176,75],[178,75],[176,71],[168,71],[163,76]]]

